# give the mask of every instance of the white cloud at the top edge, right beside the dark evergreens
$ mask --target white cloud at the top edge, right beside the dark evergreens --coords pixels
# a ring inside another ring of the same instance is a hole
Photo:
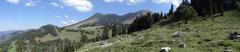
[[[152,2],[156,4],[172,3],[174,6],[178,7],[182,0],[152,0]]]

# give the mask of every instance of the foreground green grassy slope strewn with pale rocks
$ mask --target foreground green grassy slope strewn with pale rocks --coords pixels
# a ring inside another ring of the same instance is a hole
[[[88,48],[82,48],[77,52],[82,50],[87,50],[87,52],[159,52],[161,47],[171,47],[171,52],[222,52],[226,49],[237,52],[240,51],[240,42],[229,40],[227,37],[231,32],[240,32],[238,14],[235,11],[228,11],[225,12],[225,16],[189,21],[187,24],[161,27],[154,25],[150,29],[131,35],[111,38],[109,40],[115,40],[110,42],[111,45],[89,44],[84,46]],[[180,36],[172,37],[176,31],[182,31]],[[187,47],[180,48],[179,41]]]

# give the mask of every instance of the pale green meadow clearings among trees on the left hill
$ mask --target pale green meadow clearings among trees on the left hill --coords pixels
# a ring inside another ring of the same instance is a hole
[[[100,29],[100,27],[87,27],[84,28],[83,30],[90,32],[90,34],[88,33],[84,33],[87,35],[87,37],[89,39],[91,38],[95,38],[96,35],[100,35],[102,34],[102,29]],[[52,41],[52,40],[56,40],[56,39],[69,39],[69,40],[80,40],[81,37],[81,33],[80,32],[69,32],[69,31],[62,31],[59,33],[58,36],[52,36],[51,34],[48,34],[46,36],[43,37],[37,37],[35,38],[35,40],[40,40],[41,42],[46,42],[46,41]]]

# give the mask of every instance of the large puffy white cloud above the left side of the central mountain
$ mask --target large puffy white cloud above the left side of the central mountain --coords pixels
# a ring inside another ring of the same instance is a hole
[[[93,8],[92,3],[88,0],[63,0],[63,3],[66,6],[75,8],[79,12],[88,12]]]

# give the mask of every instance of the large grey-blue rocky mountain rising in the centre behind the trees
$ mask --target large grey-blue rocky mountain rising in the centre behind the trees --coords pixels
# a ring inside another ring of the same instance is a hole
[[[76,24],[67,26],[70,28],[91,27],[91,26],[105,26],[113,23],[130,24],[137,16],[144,15],[148,10],[140,10],[137,12],[127,13],[125,15],[116,14],[101,14],[96,13],[86,20],[80,21]]]

